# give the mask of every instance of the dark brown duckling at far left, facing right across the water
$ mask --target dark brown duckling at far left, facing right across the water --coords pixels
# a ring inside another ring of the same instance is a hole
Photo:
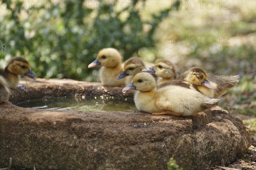
[[[36,75],[31,71],[29,62],[21,57],[13,57],[6,68],[0,69],[0,75],[6,79],[7,85],[15,89],[20,81],[20,76],[36,79]]]

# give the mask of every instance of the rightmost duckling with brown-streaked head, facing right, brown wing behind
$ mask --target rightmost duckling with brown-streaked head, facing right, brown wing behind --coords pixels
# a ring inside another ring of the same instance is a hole
[[[211,75],[207,77],[203,69],[195,67],[186,71],[181,78],[190,82],[201,94],[211,98],[218,98],[229,88],[237,84],[239,75],[230,77]],[[207,79],[209,79],[209,81]]]

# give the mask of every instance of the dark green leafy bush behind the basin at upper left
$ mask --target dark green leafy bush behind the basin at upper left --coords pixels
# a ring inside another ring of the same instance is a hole
[[[87,65],[102,48],[117,48],[127,59],[140,48],[154,47],[153,34],[172,9],[143,21],[140,9],[145,0],[127,1],[130,3],[122,6],[103,0],[41,2],[43,6],[3,0],[6,14],[0,26],[0,42],[7,45],[0,59],[24,57],[41,78],[86,79],[90,75]],[[145,31],[145,26],[151,29]]]

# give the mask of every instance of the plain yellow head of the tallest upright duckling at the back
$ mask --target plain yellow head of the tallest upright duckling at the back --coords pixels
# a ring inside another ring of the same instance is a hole
[[[103,48],[99,51],[97,59],[88,65],[88,68],[97,66],[104,66],[107,68],[114,68],[117,65],[121,65],[122,56],[114,48]]]

